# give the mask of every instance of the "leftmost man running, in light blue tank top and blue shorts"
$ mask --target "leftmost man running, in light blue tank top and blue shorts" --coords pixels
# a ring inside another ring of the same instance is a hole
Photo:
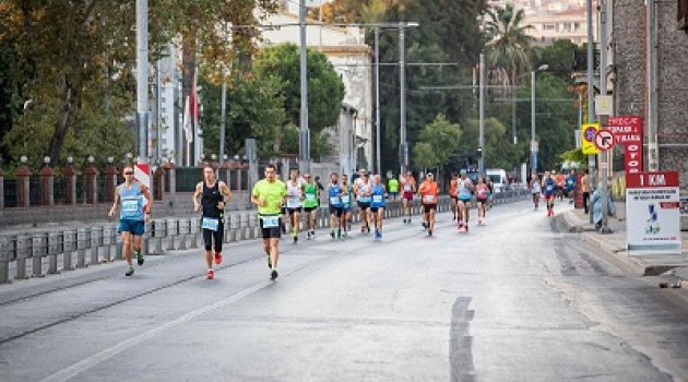
[[[112,204],[108,215],[115,215],[117,206],[121,203],[118,231],[122,234],[122,251],[124,252],[127,264],[129,264],[129,270],[124,275],[131,276],[134,273],[131,263],[132,241],[133,249],[137,252],[137,263],[139,263],[140,266],[143,265],[141,236],[145,232],[145,223],[151,219],[151,204],[153,204],[153,198],[145,184],[134,180],[133,167],[129,165],[124,166],[122,174],[124,175],[124,182],[117,186],[115,189],[115,204]],[[143,198],[147,201],[146,205],[143,203]]]

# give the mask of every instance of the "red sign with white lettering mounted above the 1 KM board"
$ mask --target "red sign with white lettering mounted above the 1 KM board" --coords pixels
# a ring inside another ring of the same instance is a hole
[[[607,129],[614,133],[616,144],[624,145],[626,177],[642,171],[642,117],[609,117]]]

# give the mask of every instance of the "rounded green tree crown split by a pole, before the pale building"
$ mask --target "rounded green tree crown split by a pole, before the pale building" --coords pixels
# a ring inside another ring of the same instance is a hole
[[[308,126],[318,133],[336,124],[344,99],[344,83],[328,58],[321,52],[308,50]],[[275,75],[281,79],[284,108],[288,120],[298,126],[300,121],[300,60],[299,49],[294,44],[281,44],[265,48],[257,57],[256,75]]]

